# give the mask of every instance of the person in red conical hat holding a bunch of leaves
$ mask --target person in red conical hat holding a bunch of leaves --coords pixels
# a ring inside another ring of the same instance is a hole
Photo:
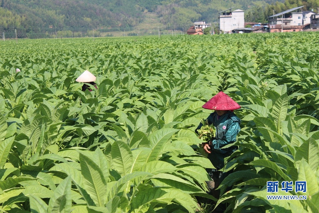
[[[234,114],[234,110],[240,107],[233,99],[223,92],[211,98],[203,105],[204,109],[215,110],[211,113],[206,121],[208,125],[213,124],[216,128],[216,137],[212,141],[203,143],[203,148],[208,153],[208,158],[216,169],[207,169],[208,174],[213,181],[208,181],[207,186],[210,191],[217,188],[221,181],[228,175],[227,172],[218,171],[224,167],[224,158],[230,156],[236,148],[223,148],[227,144],[234,143],[236,136],[240,131],[240,119]],[[196,131],[203,124],[199,124]]]

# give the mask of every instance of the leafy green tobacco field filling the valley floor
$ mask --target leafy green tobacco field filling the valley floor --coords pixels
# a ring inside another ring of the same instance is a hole
[[[0,212],[318,213],[318,41],[300,32],[0,42]],[[75,81],[85,70],[97,76],[92,92]],[[241,105],[241,131],[216,199],[194,130],[219,91]],[[267,193],[270,180],[307,181],[307,191]]]

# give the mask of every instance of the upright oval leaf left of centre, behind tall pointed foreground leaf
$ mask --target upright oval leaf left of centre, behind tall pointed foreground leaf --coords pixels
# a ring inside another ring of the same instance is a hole
[[[115,141],[112,144],[111,156],[114,169],[122,176],[127,175],[132,168],[133,156],[130,147],[123,141]]]

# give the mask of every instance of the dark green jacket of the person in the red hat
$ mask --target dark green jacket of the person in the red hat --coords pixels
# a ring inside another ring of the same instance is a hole
[[[216,127],[216,138],[212,140],[212,151],[220,152],[225,154],[234,148],[221,149],[227,144],[234,143],[236,136],[240,131],[240,119],[234,114],[234,112],[228,111],[224,115],[220,116],[219,119],[216,112],[211,113],[208,118],[208,124],[213,124]],[[201,123],[196,130],[203,126]],[[197,132],[197,131],[196,131]]]

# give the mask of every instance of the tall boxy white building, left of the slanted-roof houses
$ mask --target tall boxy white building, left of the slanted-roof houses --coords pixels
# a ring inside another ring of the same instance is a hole
[[[244,11],[232,11],[233,8],[219,12],[219,28],[224,33],[231,33],[234,29],[245,27]]]

